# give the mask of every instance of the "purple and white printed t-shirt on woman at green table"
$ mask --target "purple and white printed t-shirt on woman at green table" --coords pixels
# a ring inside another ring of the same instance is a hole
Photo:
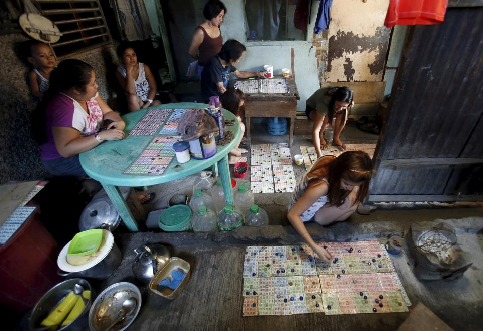
[[[81,132],[82,137],[99,132],[102,124],[102,110],[96,101],[96,97],[86,101],[89,114],[77,101],[63,93],[59,93],[52,99],[45,110],[47,139],[40,145],[43,161],[62,157],[55,147],[52,127],[74,128]]]

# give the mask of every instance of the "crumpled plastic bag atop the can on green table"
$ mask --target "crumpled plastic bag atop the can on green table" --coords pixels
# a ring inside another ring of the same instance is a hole
[[[217,130],[215,119],[199,108],[183,113],[176,134],[181,135],[184,141],[191,141]]]

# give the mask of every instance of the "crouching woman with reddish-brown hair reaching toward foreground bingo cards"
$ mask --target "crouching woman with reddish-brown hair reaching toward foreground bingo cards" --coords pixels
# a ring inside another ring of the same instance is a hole
[[[313,251],[330,262],[332,255],[318,246],[304,222],[327,225],[347,219],[366,197],[374,173],[369,155],[348,151],[325,155],[300,179],[288,205],[288,219]]]

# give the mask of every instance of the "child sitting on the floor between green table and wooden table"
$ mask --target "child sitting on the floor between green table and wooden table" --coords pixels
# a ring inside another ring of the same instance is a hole
[[[247,158],[242,157],[241,154],[248,153],[248,150],[239,148],[241,139],[243,138],[243,135],[245,133],[245,125],[243,124],[243,122],[241,122],[241,120],[245,116],[245,107],[243,106],[243,104],[245,103],[245,94],[243,93],[243,91],[237,88],[229,88],[225,91],[225,93],[223,93],[220,101],[224,109],[229,110],[236,116],[238,122],[240,123],[241,129],[240,139],[238,139],[235,148],[230,151],[228,163],[236,164],[238,162],[246,162]]]

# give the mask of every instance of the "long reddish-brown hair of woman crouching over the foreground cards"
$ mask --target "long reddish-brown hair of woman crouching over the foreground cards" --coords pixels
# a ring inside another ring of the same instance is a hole
[[[360,183],[357,191],[356,201],[362,202],[369,191],[369,182],[372,174],[372,160],[367,153],[357,151],[347,151],[335,157],[326,155],[320,157],[312,166],[307,174],[308,187],[321,184],[322,178],[326,178],[329,182],[329,202],[333,206],[339,207],[344,203],[350,191],[341,189],[341,179]]]

